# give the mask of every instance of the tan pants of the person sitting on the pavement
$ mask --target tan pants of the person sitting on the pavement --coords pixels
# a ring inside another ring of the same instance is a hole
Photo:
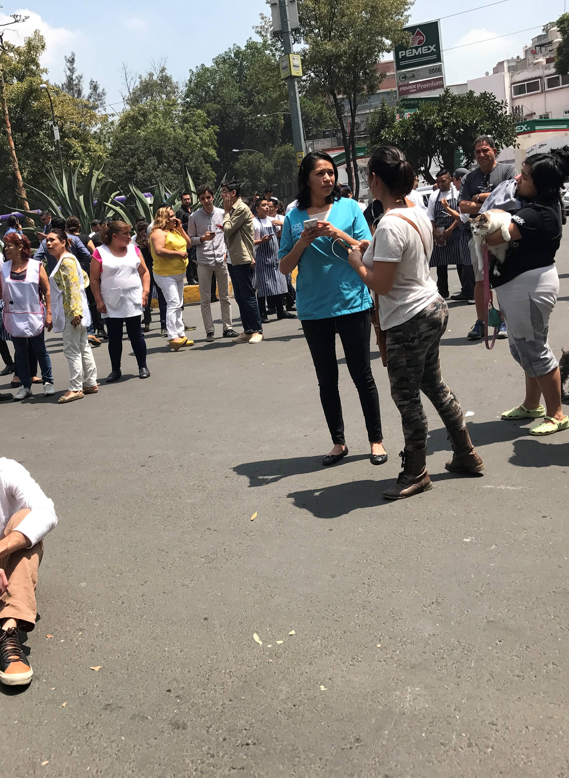
[[[12,517],[4,531],[4,537],[17,529],[23,516]],[[0,598],[0,619],[17,619],[19,628],[31,632],[36,625],[37,569],[44,555],[44,541],[31,548],[20,548],[11,554],[0,556],[0,567],[8,579],[8,591]]]

